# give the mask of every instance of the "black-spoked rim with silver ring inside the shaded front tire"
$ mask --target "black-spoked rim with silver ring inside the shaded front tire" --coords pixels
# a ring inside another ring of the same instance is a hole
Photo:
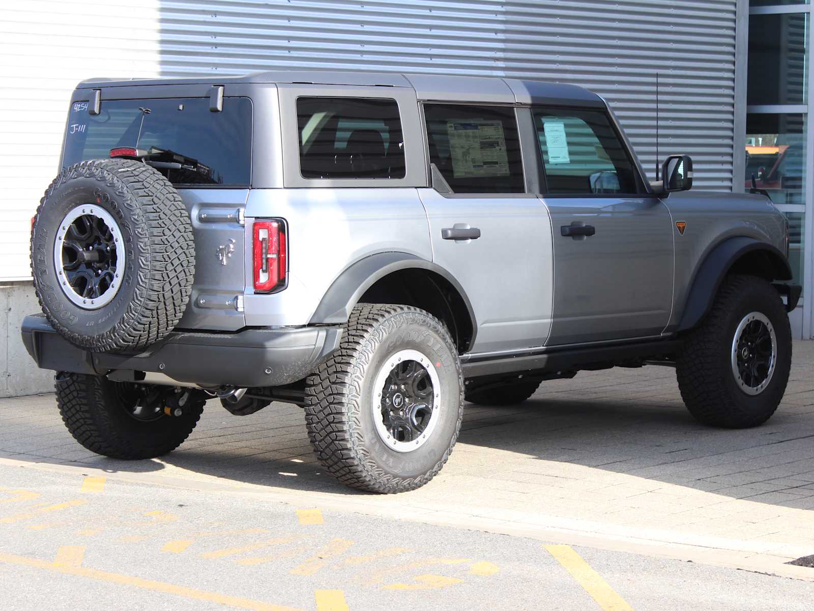
[[[750,312],[735,329],[731,353],[732,373],[744,393],[762,393],[777,366],[777,333],[760,312]]]

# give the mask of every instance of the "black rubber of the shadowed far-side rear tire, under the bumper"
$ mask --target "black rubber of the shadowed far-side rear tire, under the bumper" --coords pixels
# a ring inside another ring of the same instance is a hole
[[[87,450],[110,458],[138,460],[168,454],[186,441],[204,411],[204,402],[189,402],[184,406],[185,417],[161,418],[147,424],[162,427],[162,435],[136,433],[122,428],[110,418],[107,410],[122,409],[106,397],[105,386],[111,384],[102,376],[59,374],[55,380],[59,415],[74,439]],[[188,417],[186,417],[188,416]],[[161,438],[163,437],[163,438]]]

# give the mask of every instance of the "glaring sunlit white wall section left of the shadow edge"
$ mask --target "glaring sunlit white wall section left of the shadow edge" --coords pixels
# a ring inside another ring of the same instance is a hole
[[[31,277],[31,217],[88,77],[160,73],[158,0],[0,2],[0,280]]]

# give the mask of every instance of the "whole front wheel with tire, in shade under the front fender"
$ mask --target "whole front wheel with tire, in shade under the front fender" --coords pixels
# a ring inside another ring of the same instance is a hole
[[[791,327],[766,280],[724,280],[707,318],[689,333],[676,376],[689,413],[703,424],[746,429],[777,410],[791,369]]]

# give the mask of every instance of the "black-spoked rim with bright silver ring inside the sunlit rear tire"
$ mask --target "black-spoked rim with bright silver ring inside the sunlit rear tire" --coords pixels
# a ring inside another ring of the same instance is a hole
[[[441,385],[431,358],[400,350],[383,363],[370,402],[381,440],[396,452],[427,443],[440,420]]]

